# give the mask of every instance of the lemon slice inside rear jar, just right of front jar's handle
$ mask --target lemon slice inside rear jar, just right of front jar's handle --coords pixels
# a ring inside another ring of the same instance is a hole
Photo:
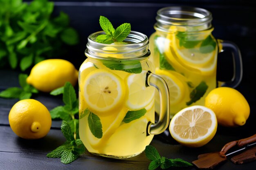
[[[184,84],[178,79],[176,76],[171,74],[170,71],[167,70],[160,70],[159,68],[156,69],[155,73],[160,75],[166,82],[169,94],[170,94],[170,104],[176,104],[180,102],[180,100],[184,96]],[[156,93],[158,94],[158,93]],[[156,100],[159,101],[159,95],[156,96]]]

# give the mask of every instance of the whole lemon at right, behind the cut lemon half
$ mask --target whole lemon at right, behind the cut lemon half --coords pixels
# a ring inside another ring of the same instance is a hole
[[[229,87],[213,89],[205,98],[205,106],[214,111],[218,124],[227,127],[244,125],[250,114],[245,97]]]

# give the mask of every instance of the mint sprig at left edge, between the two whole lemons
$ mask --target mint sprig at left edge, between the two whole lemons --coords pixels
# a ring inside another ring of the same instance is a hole
[[[27,84],[27,74],[19,74],[20,87],[10,87],[0,92],[0,97],[7,99],[30,99],[32,93],[38,93],[38,90]]]

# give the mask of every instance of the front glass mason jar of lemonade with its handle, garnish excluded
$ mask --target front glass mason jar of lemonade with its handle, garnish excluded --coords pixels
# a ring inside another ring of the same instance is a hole
[[[153,74],[148,38],[131,31],[124,42],[96,42],[103,31],[88,37],[79,69],[79,136],[87,150],[111,158],[143,152],[169,122],[168,87]],[[155,88],[161,98],[155,123]]]

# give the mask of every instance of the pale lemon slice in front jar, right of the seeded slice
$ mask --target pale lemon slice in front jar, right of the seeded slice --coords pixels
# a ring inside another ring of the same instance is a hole
[[[130,74],[126,77],[129,91],[126,107],[130,110],[145,108],[154,98],[155,88],[146,87],[146,73],[147,71],[142,71],[139,74]]]

